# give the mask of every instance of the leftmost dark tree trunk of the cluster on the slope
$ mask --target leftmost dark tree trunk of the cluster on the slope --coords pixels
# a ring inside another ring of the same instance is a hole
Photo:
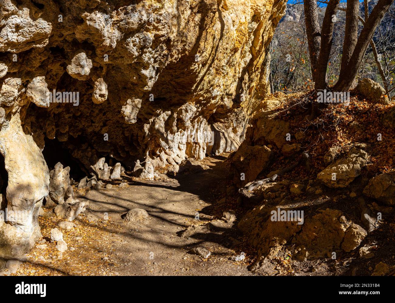
[[[315,0],[305,0],[305,24],[308,43],[308,53],[310,55],[311,75],[315,81],[316,66],[321,44],[321,30],[318,19],[318,8]]]

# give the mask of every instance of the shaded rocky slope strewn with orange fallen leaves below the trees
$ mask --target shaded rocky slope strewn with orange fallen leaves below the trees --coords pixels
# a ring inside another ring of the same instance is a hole
[[[386,271],[373,275],[387,275],[395,269],[395,105],[363,79],[349,106],[333,104],[310,123],[312,94],[268,96],[228,160],[240,188],[238,227],[257,251],[251,268],[272,275],[286,263],[327,275],[325,267],[342,265],[342,274],[371,275],[382,261]]]

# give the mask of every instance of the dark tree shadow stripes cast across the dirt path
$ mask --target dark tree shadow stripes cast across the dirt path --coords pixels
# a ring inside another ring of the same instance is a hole
[[[110,216],[116,216],[117,220],[119,220],[121,215],[128,212],[128,210],[137,207],[147,210],[152,218],[174,225],[175,227],[186,229],[190,225],[188,225],[186,222],[183,223],[182,220],[174,220],[178,221],[174,222],[171,220],[171,218],[168,218],[168,215],[181,216],[189,220],[194,220],[195,214],[170,210],[170,207],[166,207],[166,203],[169,203],[169,201],[165,200],[164,196],[169,195],[171,198],[174,198],[174,200],[179,201],[180,199],[185,198],[185,193],[191,194],[191,197],[196,196],[195,199],[199,199],[202,202],[210,204],[210,206],[206,206],[203,208],[203,210],[199,211],[202,216],[201,221],[196,221],[196,224],[198,225],[204,222],[209,224],[210,232],[195,233],[194,235],[191,235],[189,240],[196,241],[192,244],[190,241],[187,241],[188,239],[185,239],[184,244],[172,244],[164,239],[158,239],[159,237],[156,237],[156,235],[161,233],[160,228],[152,228],[149,231],[145,231],[145,233],[148,232],[150,236],[152,236],[150,237],[151,239],[156,238],[157,240],[150,240],[150,242],[154,242],[168,248],[178,249],[190,248],[190,246],[198,246],[204,242],[218,244],[228,249],[235,248],[235,245],[233,244],[235,240],[234,238],[240,237],[240,233],[237,231],[237,229],[232,227],[232,224],[223,223],[222,225],[213,225],[209,223],[211,219],[221,219],[221,216],[216,215],[218,212],[215,211],[214,208],[223,208],[223,210],[229,209],[228,205],[226,204],[218,205],[216,203],[225,192],[218,191],[218,186],[226,189],[227,182],[227,169],[224,167],[224,162],[221,161],[226,159],[226,157],[217,156],[216,159],[220,161],[214,161],[213,165],[210,166],[210,170],[200,170],[198,172],[193,172],[192,170],[189,172],[189,174],[179,174],[173,178],[170,178],[168,181],[138,181],[130,176],[123,177],[130,186],[141,186],[141,188],[148,189],[148,191],[150,188],[162,189],[160,193],[156,193],[156,191],[152,190],[151,192],[145,194],[144,199],[149,201],[158,201],[154,204],[138,201],[138,198],[130,199],[129,197],[122,197],[117,195],[117,193],[113,190],[107,189],[91,191],[92,193],[95,193],[95,198],[81,198],[88,199],[91,201],[91,203],[94,203],[95,206],[100,206],[100,209],[95,207],[90,207],[88,209],[88,214],[92,214],[93,216],[100,216],[100,214],[103,212],[108,211]],[[158,195],[160,197],[158,197]],[[177,195],[179,195],[179,197],[177,197]],[[162,205],[162,203],[164,204]],[[213,205],[214,208],[211,208],[211,205]],[[222,215],[222,212],[220,212],[220,214]],[[107,232],[123,235],[124,237],[132,240],[145,241],[147,238],[143,234],[132,234],[126,231],[119,231],[112,227],[106,227],[105,230]],[[180,235],[175,236],[180,237]],[[179,238],[179,240],[181,239]]]

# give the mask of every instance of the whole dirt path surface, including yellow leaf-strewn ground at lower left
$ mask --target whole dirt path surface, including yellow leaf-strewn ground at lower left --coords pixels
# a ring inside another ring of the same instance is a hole
[[[155,181],[124,177],[128,187],[114,184],[81,194],[79,198],[90,205],[71,230],[60,228],[63,220],[48,211],[45,220],[40,217],[43,240],[15,275],[253,275],[247,269],[249,256],[244,261],[230,259],[243,251],[244,244],[233,224],[221,220],[229,209],[228,201],[218,203],[226,191],[224,159],[206,158],[201,162],[205,169],[200,167],[199,172]],[[133,208],[146,210],[149,218],[122,220]],[[192,225],[205,225],[210,231],[181,237]],[[62,254],[48,239],[54,227],[68,244]],[[203,259],[188,253],[199,245],[211,256]]]

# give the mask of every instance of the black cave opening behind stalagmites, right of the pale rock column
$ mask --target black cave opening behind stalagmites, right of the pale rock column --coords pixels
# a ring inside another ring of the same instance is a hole
[[[43,156],[49,170],[52,170],[56,163],[60,162],[63,167],[70,166],[70,178],[73,178],[74,181],[78,182],[86,176],[86,172],[81,169],[82,164],[71,155],[70,151],[63,146],[62,142],[49,138],[45,138],[44,142]]]

